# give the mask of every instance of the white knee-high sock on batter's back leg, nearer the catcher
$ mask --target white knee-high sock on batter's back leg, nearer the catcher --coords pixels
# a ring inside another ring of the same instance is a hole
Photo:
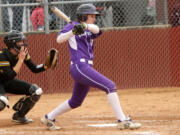
[[[51,111],[49,114],[47,114],[48,118],[50,120],[54,120],[57,116],[68,112],[72,110],[72,108],[69,106],[68,100],[57,106],[53,111]]]

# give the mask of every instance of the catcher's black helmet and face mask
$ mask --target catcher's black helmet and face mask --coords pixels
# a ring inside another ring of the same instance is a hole
[[[8,49],[15,49],[17,52],[20,51],[21,46],[27,47],[25,43],[26,37],[25,35],[17,30],[12,30],[4,37],[4,43],[6,44]],[[17,42],[23,41],[23,44],[17,45]]]

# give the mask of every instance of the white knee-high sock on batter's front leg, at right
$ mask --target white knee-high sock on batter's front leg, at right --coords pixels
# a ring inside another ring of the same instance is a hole
[[[108,98],[109,104],[111,105],[112,109],[114,110],[116,114],[117,119],[124,121],[126,119],[126,116],[124,115],[122,111],[117,92],[107,94],[107,98]]]

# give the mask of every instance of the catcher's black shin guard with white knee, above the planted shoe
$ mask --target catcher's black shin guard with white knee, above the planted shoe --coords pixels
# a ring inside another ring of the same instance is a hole
[[[34,91],[33,89],[31,90]],[[41,94],[42,94],[42,89],[41,88],[36,89],[32,93],[32,95],[25,96],[19,99],[19,101],[13,106],[13,109],[15,111],[18,111],[19,115],[25,116],[33,108],[35,103],[39,100]]]

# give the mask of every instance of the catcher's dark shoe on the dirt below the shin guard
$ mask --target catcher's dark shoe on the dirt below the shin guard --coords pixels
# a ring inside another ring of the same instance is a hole
[[[18,113],[14,113],[14,115],[12,117],[12,121],[16,122],[16,123],[19,123],[19,124],[28,124],[28,123],[32,123],[33,122],[32,119],[29,119],[29,118],[27,118],[25,116],[20,117],[18,115]]]

